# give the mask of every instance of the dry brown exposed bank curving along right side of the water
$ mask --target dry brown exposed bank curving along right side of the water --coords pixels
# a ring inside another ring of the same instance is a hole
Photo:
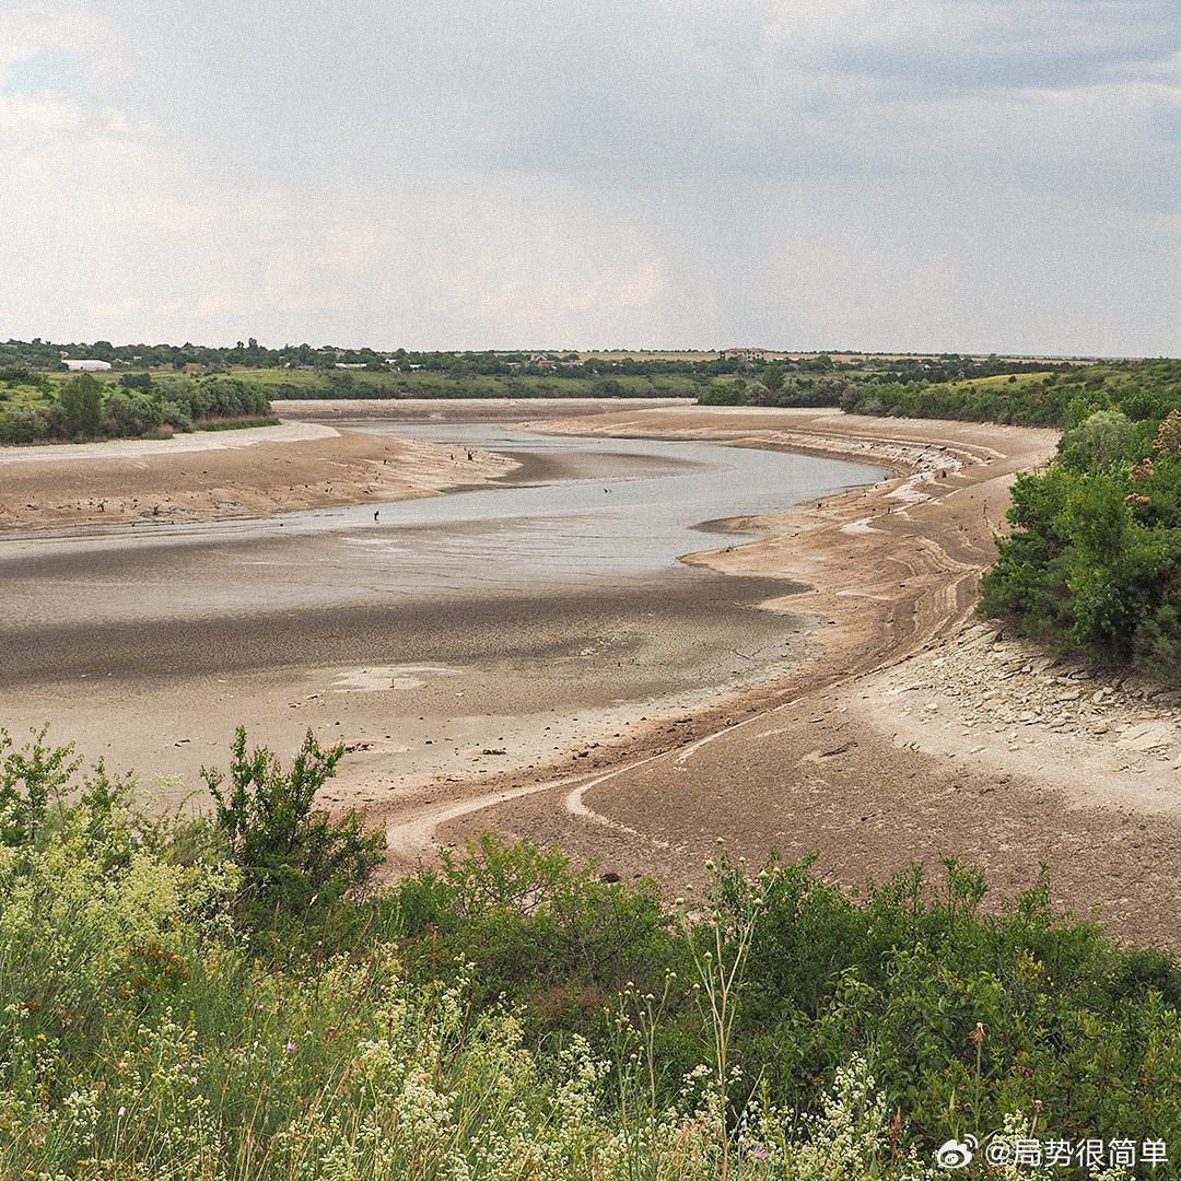
[[[1059,902],[1100,913],[1130,939],[1181,946],[1174,703],[1134,696],[1140,689],[1116,700],[1120,690],[1088,684],[1087,700],[1100,694],[1100,704],[1087,709],[1105,720],[1078,709],[1072,722],[1062,710],[1083,694],[1062,683],[1078,670],[1043,666],[1057,712],[1031,706],[1033,689],[1023,698],[1012,676],[986,670],[1036,654],[970,618],[1013,474],[1049,458],[1053,432],[722,409],[546,429],[783,446],[873,458],[900,475],[762,518],[749,544],[694,555],[730,574],[810,585],[764,605],[821,625],[810,658],[781,685],[654,719],[626,745],[579,751],[531,784],[485,779],[478,795],[452,784],[430,807],[419,802],[410,827],[383,809],[397,864],[490,827],[677,889],[699,881],[718,837],[751,859],[816,852],[821,872],[850,883],[961,855],[998,895],[1032,885],[1044,861]],[[979,698],[974,679],[987,679]],[[978,709],[986,719],[973,720]]]

